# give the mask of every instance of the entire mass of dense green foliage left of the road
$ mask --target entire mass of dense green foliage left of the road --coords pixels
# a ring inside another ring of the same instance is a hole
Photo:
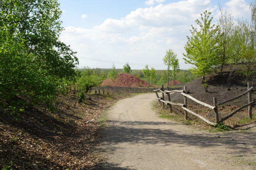
[[[75,77],[78,60],[59,41],[60,16],[57,0],[0,3],[0,107],[14,117],[38,102],[51,107]]]

